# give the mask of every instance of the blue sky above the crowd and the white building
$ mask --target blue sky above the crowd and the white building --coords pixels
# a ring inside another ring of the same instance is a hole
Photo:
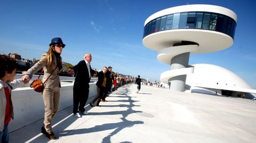
[[[113,66],[113,71],[159,81],[170,69],[157,60],[157,51],[142,45],[143,24],[153,13],[186,4],[212,4],[237,14],[233,46],[220,52],[191,54],[189,64],[222,66],[256,89],[254,0],[238,1],[7,1],[0,4],[0,54],[18,53],[39,59],[53,37],[66,44],[63,61],[77,64],[84,53],[93,56],[92,67]]]

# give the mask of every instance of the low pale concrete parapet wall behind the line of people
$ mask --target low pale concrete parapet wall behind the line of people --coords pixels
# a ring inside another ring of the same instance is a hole
[[[89,98],[97,94],[95,83],[90,83]],[[44,118],[42,93],[23,87],[12,91],[14,120],[9,123],[9,132]],[[61,83],[59,111],[73,105],[73,83]],[[71,113],[70,113],[71,114]],[[43,125],[43,123],[42,123]]]

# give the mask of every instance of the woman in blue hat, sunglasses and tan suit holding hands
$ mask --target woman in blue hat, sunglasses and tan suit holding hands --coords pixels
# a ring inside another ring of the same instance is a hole
[[[42,91],[43,101],[45,106],[44,124],[41,128],[41,132],[45,134],[49,139],[56,139],[52,131],[52,120],[56,115],[59,102],[60,102],[60,77],[59,72],[62,69],[61,53],[66,46],[63,44],[61,38],[53,38],[49,44],[48,52],[42,54],[41,59],[27,72],[23,72],[23,78],[30,80],[32,75],[43,68],[44,70],[44,89]],[[70,69],[69,69],[70,70]],[[68,71],[69,72],[69,71]],[[50,77],[50,78],[49,78]],[[48,79],[49,78],[49,79]],[[46,82],[45,82],[46,81]]]

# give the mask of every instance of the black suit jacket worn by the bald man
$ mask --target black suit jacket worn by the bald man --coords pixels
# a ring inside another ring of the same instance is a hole
[[[87,85],[90,83],[91,77],[89,77],[89,72],[87,69],[86,62],[84,60],[80,61],[77,65],[74,66],[73,70],[75,71],[75,81],[78,81],[79,83],[83,85]],[[91,70],[91,75],[94,74],[94,70]]]

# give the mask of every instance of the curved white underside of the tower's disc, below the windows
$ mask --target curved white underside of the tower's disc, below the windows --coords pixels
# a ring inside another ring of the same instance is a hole
[[[195,53],[211,53],[221,51],[233,45],[233,38],[229,35],[211,30],[203,29],[172,29],[164,30],[143,38],[144,46],[159,51],[164,48],[172,47],[175,43],[180,43],[181,40],[193,41],[198,44]]]

